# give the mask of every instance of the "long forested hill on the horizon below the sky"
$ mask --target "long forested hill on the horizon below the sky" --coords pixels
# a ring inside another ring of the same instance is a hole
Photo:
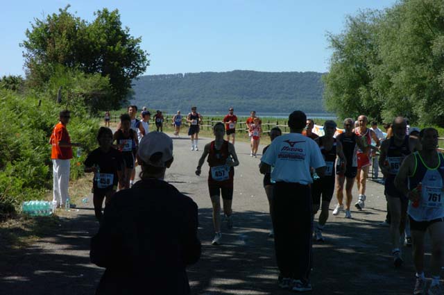
[[[200,112],[325,112],[322,73],[227,71],[141,76],[133,81],[137,106]]]

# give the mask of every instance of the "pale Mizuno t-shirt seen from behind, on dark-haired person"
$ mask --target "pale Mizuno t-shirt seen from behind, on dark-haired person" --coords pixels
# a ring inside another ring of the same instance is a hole
[[[310,167],[316,169],[325,166],[318,144],[300,133],[276,137],[261,161],[273,166],[273,180],[302,185],[313,183]]]

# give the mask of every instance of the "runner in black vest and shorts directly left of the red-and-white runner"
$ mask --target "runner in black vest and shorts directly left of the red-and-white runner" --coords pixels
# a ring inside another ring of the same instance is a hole
[[[336,169],[336,199],[338,199],[338,204],[333,210],[333,215],[339,214],[339,212],[344,210],[343,205],[343,189],[345,183],[345,195],[347,197],[345,201],[345,218],[352,218],[352,213],[350,212],[350,205],[352,204],[352,189],[355,183],[355,177],[357,174],[357,146],[361,149],[364,148],[359,136],[353,133],[354,120],[352,118],[347,118],[344,120],[344,132],[336,137],[336,142],[341,142],[343,153],[345,155],[346,163],[341,163],[338,161],[339,167],[345,166],[345,172],[341,169]]]

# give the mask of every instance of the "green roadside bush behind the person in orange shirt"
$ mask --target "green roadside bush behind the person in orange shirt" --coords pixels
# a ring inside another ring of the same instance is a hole
[[[39,106],[39,101],[41,101]],[[13,211],[22,201],[42,199],[52,188],[49,137],[66,106],[56,105],[44,94],[17,94],[0,90],[0,214]],[[71,140],[84,152],[71,160],[71,179],[83,176],[81,163],[96,146],[99,120],[89,117],[85,106],[73,101],[72,121],[67,128]],[[76,150],[74,149],[74,156]]]

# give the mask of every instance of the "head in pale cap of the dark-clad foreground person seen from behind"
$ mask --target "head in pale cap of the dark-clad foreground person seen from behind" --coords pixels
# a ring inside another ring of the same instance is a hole
[[[137,150],[137,162],[142,168],[140,178],[161,178],[173,163],[173,140],[162,132],[153,131],[142,137]]]

